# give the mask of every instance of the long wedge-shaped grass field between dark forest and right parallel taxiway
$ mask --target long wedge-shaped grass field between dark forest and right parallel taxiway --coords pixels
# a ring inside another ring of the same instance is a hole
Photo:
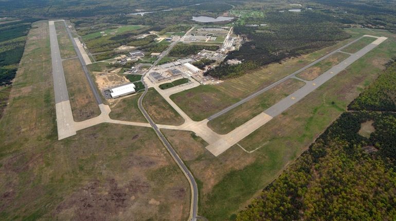
[[[219,85],[204,85],[171,95],[172,100],[193,120],[202,120],[238,102],[241,98],[262,89],[279,79],[311,64],[316,59],[362,36],[351,33],[351,38],[316,52],[273,63],[243,76],[226,79]],[[202,88],[202,89],[201,89]],[[189,99],[183,99],[189,97]]]

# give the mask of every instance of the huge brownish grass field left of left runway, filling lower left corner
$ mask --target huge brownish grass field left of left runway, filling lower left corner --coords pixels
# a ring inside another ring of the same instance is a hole
[[[0,119],[0,219],[186,220],[189,184],[152,129],[58,141],[48,22],[33,26]]]

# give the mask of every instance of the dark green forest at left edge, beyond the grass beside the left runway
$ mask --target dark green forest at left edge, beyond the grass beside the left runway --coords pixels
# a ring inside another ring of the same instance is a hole
[[[0,25],[0,86],[10,85],[21,60],[26,35],[35,19]]]

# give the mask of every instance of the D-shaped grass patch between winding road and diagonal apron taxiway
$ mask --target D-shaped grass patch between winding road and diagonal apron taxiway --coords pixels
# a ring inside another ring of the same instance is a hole
[[[142,103],[156,124],[182,125],[184,123],[183,117],[154,88],[149,89]]]

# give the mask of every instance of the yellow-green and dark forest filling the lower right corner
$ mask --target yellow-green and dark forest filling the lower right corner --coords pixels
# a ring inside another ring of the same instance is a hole
[[[370,106],[371,99],[383,96],[373,90],[396,94],[384,81],[396,76],[395,67],[393,63],[356,98],[359,111],[341,114],[295,164],[232,218],[395,220],[396,113],[371,111]],[[379,103],[377,108],[387,105]],[[373,128],[369,136],[360,135],[362,124],[370,121]]]

